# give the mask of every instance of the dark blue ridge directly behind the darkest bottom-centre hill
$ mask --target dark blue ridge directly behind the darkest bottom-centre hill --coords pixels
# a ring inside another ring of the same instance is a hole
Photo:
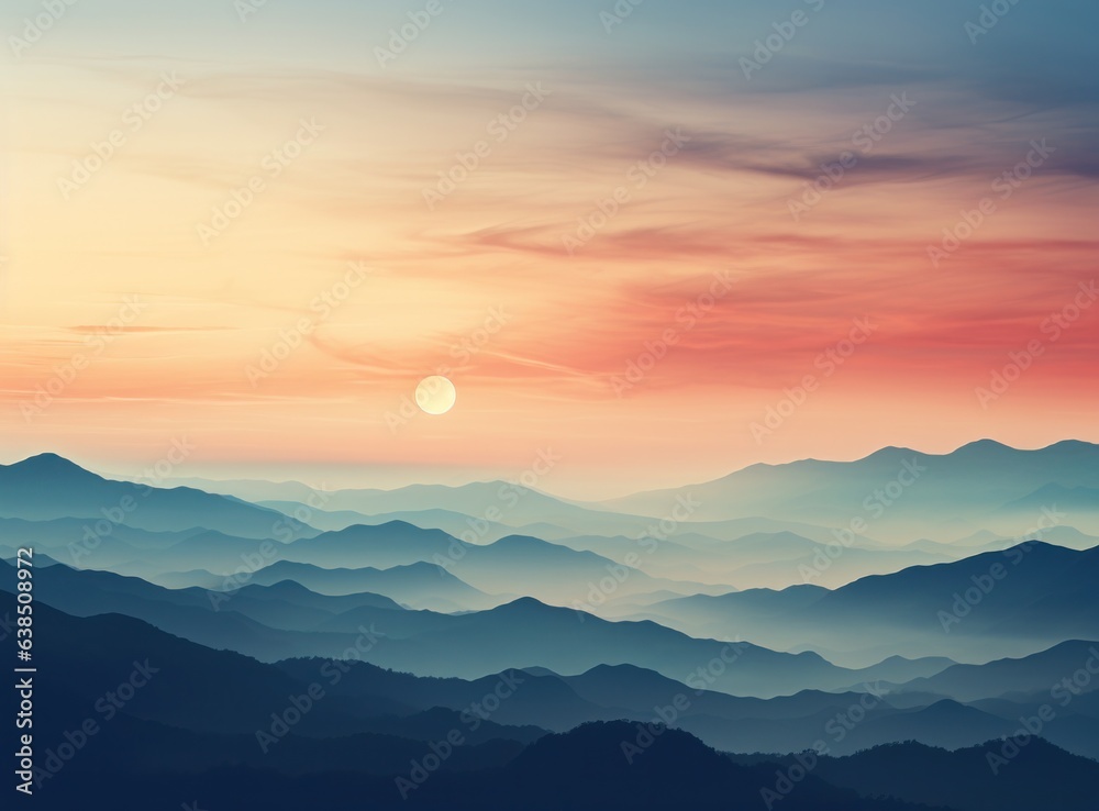
[[[317,673],[318,663],[299,659],[279,666],[304,679]],[[936,696],[929,697],[928,704],[899,708],[890,696],[876,697],[867,693],[867,688],[844,693],[807,690],[764,700],[693,689],[631,665],[601,665],[577,676],[558,676],[544,668],[524,674],[522,689],[493,715],[502,723],[564,731],[591,720],[648,723],[660,720],[663,712],[673,726],[717,748],[737,752],[798,752],[822,738],[829,741],[832,754],[907,740],[962,747],[1010,734],[1015,729],[1012,723],[1018,722]],[[389,697],[412,707],[435,702],[459,709],[490,692],[498,678],[473,682],[419,678],[356,664],[338,689],[351,696]],[[669,718],[673,707],[676,716]],[[856,707],[869,707],[870,711],[850,731],[840,719],[850,716]],[[1096,732],[1099,723],[1095,720],[1081,725],[1080,733]],[[1087,738],[1077,736],[1070,746],[1070,751],[1088,749]]]

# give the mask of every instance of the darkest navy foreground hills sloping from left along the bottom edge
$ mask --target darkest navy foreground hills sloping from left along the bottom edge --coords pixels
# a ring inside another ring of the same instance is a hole
[[[13,596],[0,593],[0,613],[13,609]],[[36,656],[35,681],[37,767],[48,765],[38,773],[35,801],[46,809],[77,807],[80,797],[110,787],[116,811],[173,803],[297,811],[311,793],[331,809],[670,811],[688,803],[717,811],[756,808],[768,791],[780,795],[781,808],[802,811],[1094,811],[1099,786],[1099,764],[1041,741],[1004,767],[1001,782],[983,774],[999,743],[953,754],[906,745],[825,757],[808,776],[784,782],[795,760],[722,756],[658,725],[609,721],[546,734],[499,723],[496,713],[510,701],[541,703],[545,711],[585,700],[568,680],[552,676],[510,673],[462,682],[366,668],[362,678],[333,684],[317,662],[264,665],[130,618],[73,618],[38,603],[36,619],[51,640]],[[607,676],[591,674],[577,685],[586,682],[595,695],[606,690]],[[640,700],[659,677],[636,676]],[[514,689],[500,691],[506,679]],[[132,691],[120,687],[126,684]],[[531,697],[521,698],[528,690]],[[500,698],[496,707],[491,696]],[[481,714],[422,709],[436,698],[471,702]],[[819,698],[784,701],[774,714]],[[93,720],[96,731],[71,757],[51,759],[74,740],[81,719]],[[460,742],[442,747],[455,732]],[[943,779],[928,780],[929,774]],[[1037,798],[1051,804],[1035,804]]]

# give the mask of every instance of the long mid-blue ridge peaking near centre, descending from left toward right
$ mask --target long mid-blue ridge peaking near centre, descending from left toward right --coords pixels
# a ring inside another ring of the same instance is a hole
[[[63,611],[126,613],[200,644],[266,662],[342,656],[366,629],[379,637],[370,662],[422,676],[478,678],[532,665],[568,674],[600,664],[634,664],[688,684],[703,679],[711,689],[766,697],[807,688],[836,689],[869,673],[837,668],[810,653],[696,640],[648,622],[607,622],[532,598],[465,614],[362,606],[310,631],[297,631],[270,627],[236,611],[235,601],[246,596],[232,596],[222,603],[214,599],[218,595],[207,592],[203,606],[201,592],[191,592],[181,604],[179,592],[151,584],[123,587],[118,582],[123,578],[106,573],[63,567],[58,571],[57,577],[41,571],[36,589],[40,599]],[[273,612],[267,603],[257,602],[259,608],[249,610]],[[711,675],[699,676],[699,668]]]

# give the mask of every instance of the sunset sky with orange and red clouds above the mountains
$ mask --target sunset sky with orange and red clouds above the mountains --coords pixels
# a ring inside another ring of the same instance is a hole
[[[541,487],[603,498],[1099,441],[1097,23],[12,0],[0,462],[185,440],[181,477],[384,487],[548,451]]]

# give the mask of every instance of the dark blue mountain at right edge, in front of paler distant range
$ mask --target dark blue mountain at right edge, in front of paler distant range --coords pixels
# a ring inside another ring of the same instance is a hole
[[[865,577],[656,602],[633,614],[692,635],[733,627],[777,649],[811,644],[845,664],[902,655],[981,660],[1099,638],[1099,548],[1029,542],[1003,552]]]

